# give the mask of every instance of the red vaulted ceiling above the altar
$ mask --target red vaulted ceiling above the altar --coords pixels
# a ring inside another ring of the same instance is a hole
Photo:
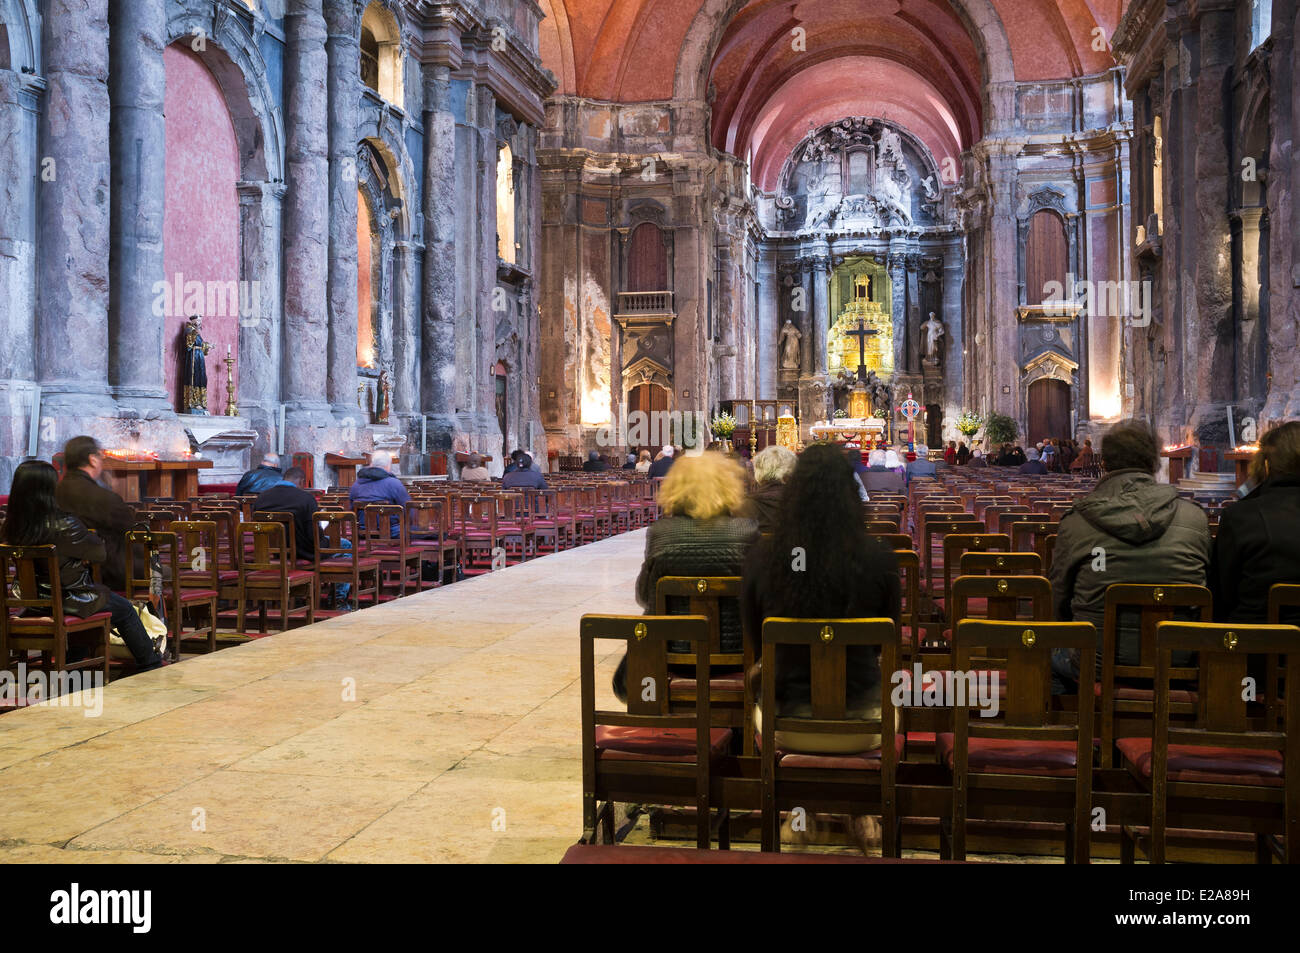
[[[811,127],[881,116],[937,161],[980,138],[983,87],[1091,75],[1126,0],[540,0],[559,94],[668,100],[712,90],[712,144],[771,189]],[[698,68],[697,62],[698,60]]]

